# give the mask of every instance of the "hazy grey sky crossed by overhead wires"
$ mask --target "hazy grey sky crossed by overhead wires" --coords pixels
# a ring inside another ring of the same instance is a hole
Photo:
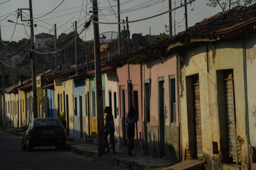
[[[6,2],[7,0],[0,0],[0,3]],[[52,11],[55,7],[57,7],[63,0],[32,0],[32,8],[33,8],[33,18],[41,17],[48,12]],[[109,0],[111,6],[113,6],[113,10],[117,15],[117,1]],[[99,21],[100,22],[117,22],[117,17],[114,15],[113,10],[110,8],[110,4],[107,0],[98,0],[99,6]],[[78,33],[80,32],[83,27],[83,23],[86,19],[89,18],[89,15],[86,16],[86,3],[87,5],[87,12],[92,10],[92,3],[90,0],[65,0],[59,7],[57,7],[53,12],[50,14],[43,16],[38,19],[34,19],[34,24],[37,24],[37,27],[34,28],[34,35],[39,33],[50,33],[54,34],[53,32],[53,25],[57,24],[57,35],[61,34],[62,32],[69,33],[73,31],[73,27],[71,27],[73,22],[80,21],[77,24]],[[184,3],[184,0],[182,0]],[[82,6],[83,4],[83,6]],[[120,8],[121,8],[121,19],[126,19],[128,16],[128,20],[137,20],[140,18],[146,18],[149,16],[153,16],[159,14],[161,12],[165,12],[168,10],[169,1],[167,0],[120,0]],[[181,1],[174,1],[172,0],[172,7],[176,5],[176,7],[180,6]],[[194,7],[194,11],[191,11],[191,8]],[[0,5],[0,23],[1,23],[1,33],[2,39],[8,41],[11,39],[12,34],[13,38],[12,41],[18,41],[22,38],[27,38],[27,34],[30,34],[30,27],[23,25],[16,25],[14,23],[7,22],[7,20],[12,20],[16,22],[17,20],[17,12],[14,12],[18,8],[29,8],[29,0],[10,0],[9,2],[3,3]],[[72,8],[72,9],[70,9]],[[141,9],[142,8],[142,9]],[[205,5],[205,0],[197,0],[195,3],[193,2],[192,5],[187,6],[188,11],[188,26],[192,26],[197,22],[200,22],[204,18],[208,18],[214,14],[217,14],[221,11],[220,7],[212,8]],[[13,13],[6,19],[5,14]],[[28,10],[23,10],[29,15]],[[179,8],[175,12],[172,12],[172,20],[174,20],[175,14],[175,21],[181,22],[184,18],[185,9],[184,7]],[[89,13],[91,15],[91,13]],[[5,16],[3,16],[5,15]],[[26,14],[24,14],[25,17]],[[105,17],[104,17],[105,15]],[[86,16],[86,19],[85,19]],[[72,22],[72,23],[71,23]],[[19,17],[17,23],[22,24],[21,18]],[[27,22],[23,22],[27,25]],[[174,21],[173,21],[174,23]],[[164,24],[169,25],[169,14],[164,14],[161,17],[155,17],[152,19],[143,20],[136,23],[129,23],[130,32],[133,33],[142,33],[143,35],[149,34],[149,27],[151,27],[151,34],[159,35],[165,31]],[[79,27],[81,26],[81,27]],[[112,27],[112,28],[111,28]],[[107,31],[118,31],[117,25],[105,25],[99,24],[99,32],[107,32]],[[15,30],[14,30],[15,28]],[[26,29],[26,31],[25,31]],[[123,29],[123,27],[121,28]],[[185,20],[181,23],[176,24],[176,33],[181,32],[185,29]],[[50,31],[52,30],[52,31]],[[26,34],[27,32],[27,34]],[[174,32],[174,24],[173,24],[173,32]],[[86,34],[86,40],[93,39],[93,26],[90,26],[85,32],[83,32],[80,37],[83,39]]]

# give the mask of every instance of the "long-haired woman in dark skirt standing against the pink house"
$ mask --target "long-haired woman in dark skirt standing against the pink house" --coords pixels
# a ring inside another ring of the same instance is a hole
[[[127,126],[127,137],[128,142],[128,155],[134,155],[131,153],[131,149],[134,146],[134,136],[135,136],[135,122],[137,122],[137,116],[133,106],[130,106],[128,109],[128,114],[126,116],[125,124]]]

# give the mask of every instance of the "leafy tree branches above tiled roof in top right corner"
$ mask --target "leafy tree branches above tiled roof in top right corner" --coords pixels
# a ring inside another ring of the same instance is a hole
[[[256,0],[205,0],[207,6],[216,7],[219,5],[223,11],[230,10],[235,6],[248,6]]]

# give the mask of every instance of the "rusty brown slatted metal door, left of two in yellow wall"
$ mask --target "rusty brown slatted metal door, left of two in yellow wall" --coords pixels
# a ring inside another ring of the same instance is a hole
[[[198,75],[192,77],[193,83],[193,108],[195,122],[195,141],[197,148],[197,159],[203,159],[202,144],[202,125],[201,125],[201,107],[200,107],[200,90]]]

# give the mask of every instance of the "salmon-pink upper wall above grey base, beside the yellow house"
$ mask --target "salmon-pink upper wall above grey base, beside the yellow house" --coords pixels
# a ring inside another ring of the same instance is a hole
[[[175,54],[168,56],[163,63],[154,60],[142,66],[143,80],[151,79],[151,96],[150,96],[150,125],[158,126],[158,77],[165,78],[165,105],[167,108],[167,118],[165,125],[170,126],[170,82],[169,76],[175,75],[175,91],[176,91],[176,122],[178,122],[178,66]],[[144,87],[143,87],[144,89]],[[144,105],[143,105],[144,111]],[[143,114],[144,118],[144,114]],[[178,126],[178,123],[177,123]]]

